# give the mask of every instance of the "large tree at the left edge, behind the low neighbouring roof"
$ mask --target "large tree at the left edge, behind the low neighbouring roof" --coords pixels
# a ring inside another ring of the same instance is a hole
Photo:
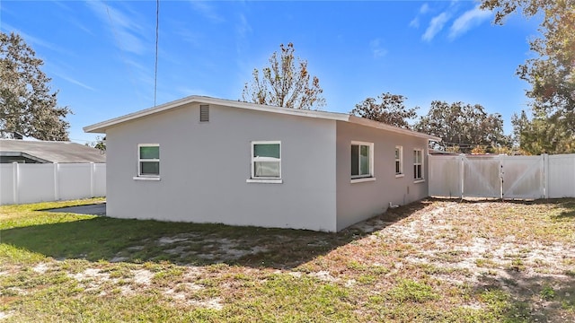
[[[41,140],[68,140],[71,113],[57,106],[44,63],[17,34],[0,32],[0,137],[13,132]]]

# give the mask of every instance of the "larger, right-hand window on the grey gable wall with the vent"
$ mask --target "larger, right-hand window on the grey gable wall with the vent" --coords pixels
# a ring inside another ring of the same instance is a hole
[[[252,142],[252,179],[281,179],[281,142]]]

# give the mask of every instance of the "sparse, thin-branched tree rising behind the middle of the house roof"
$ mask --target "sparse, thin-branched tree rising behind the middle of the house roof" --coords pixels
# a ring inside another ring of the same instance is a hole
[[[253,70],[251,84],[245,83],[244,102],[294,109],[319,109],[325,105],[320,80],[307,72],[307,61],[294,56],[294,44],[279,45],[270,57],[270,66]]]

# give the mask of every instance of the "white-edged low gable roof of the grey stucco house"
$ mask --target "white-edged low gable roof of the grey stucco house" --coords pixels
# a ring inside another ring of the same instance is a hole
[[[214,104],[214,105],[222,105],[226,107],[233,107],[237,109],[251,109],[256,111],[265,111],[265,112],[272,112],[272,113],[279,113],[279,114],[286,114],[292,116],[301,116],[306,118],[323,118],[328,120],[338,120],[338,121],[345,121],[350,122],[366,127],[375,127],[380,128],[388,131],[392,131],[394,133],[404,134],[404,135],[413,135],[421,138],[426,138],[429,140],[441,141],[440,138],[433,136],[433,135],[426,135],[419,132],[403,129],[400,127],[394,127],[390,125],[386,125],[381,122],[369,120],[367,118],[359,118],[355,116],[351,116],[346,113],[336,113],[336,112],[325,112],[325,111],[316,111],[316,110],[307,110],[307,109],[291,109],[291,108],[280,108],[280,107],[272,107],[267,105],[255,104],[255,103],[248,103],[242,102],[237,100],[224,100],[224,99],[216,99],[210,98],[206,96],[197,96],[192,95],[180,100],[174,100],[172,102],[164,103],[154,108],[143,109],[139,110],[134,113],[130,113],[128,115],[112,118],[110,120],[102,121],[100,123],[94,124],[92,126],[84,127],[84,131],[88,133],[98,133],[104,134],[106,129],[110,127],[117,126],[121,123],[128,122],[130,120],[134,120],[137,118],[143,118],[146,116],[154,115],[156,113],[164,112],[169,109],[176,109],[185,104],[190,103],[200,103],[200,104]]]

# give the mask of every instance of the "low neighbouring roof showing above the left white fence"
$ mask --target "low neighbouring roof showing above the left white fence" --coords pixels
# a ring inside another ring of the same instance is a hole
[[[22,156],[36,162],[106,162],[99,149],[70,142],[0,139],[0,156]]]

